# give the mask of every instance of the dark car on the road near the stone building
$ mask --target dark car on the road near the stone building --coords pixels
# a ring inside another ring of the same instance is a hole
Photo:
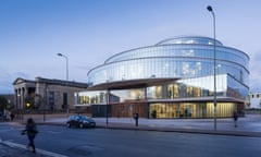
[[[86,116],[70,116],[66,122],[67,128],[95,128],[96,122],[94,119]]]

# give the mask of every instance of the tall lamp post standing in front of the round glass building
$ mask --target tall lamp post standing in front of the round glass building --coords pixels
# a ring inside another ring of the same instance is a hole
[[[216,52],[215,52],[215,14],[214,14],[214,11],[212,9],[211,5],[208,5],[207,7],[208,11],[211,12],[212,16],[213,16],[213,36],[214,36],[214,130],[216,130]]]

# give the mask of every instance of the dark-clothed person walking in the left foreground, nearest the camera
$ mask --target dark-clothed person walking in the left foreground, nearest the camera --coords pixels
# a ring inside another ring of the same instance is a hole
[[[22,134],[27,134],[28,141],[29,141],[27,147],[28,148],[32,147],[33,153],[36,153],[34,140],[37,133],[38,133],[38,130],[35,121],[33,120],[33,118],[28,118],[25,130],[23,130]]]

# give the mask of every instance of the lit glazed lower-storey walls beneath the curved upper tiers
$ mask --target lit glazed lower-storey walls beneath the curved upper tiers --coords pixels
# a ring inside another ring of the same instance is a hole
[[[235,85],[237,88],[228,86]],[[247,88],[240,85],[235,78],[227,74],[217,75],[216,82],[217,96],[243,98]],[[146,92],[145,92],[146,90]],[[146,97],[147,94],[147,97]],[[78,96],[78,104],[105,104],[105,92],[86,92]],[[202,100],[201,98],[212,99],[213,97],[213,76],[204,76],[198,78],[186,78],[163,84],[159,86],[150,86],[135,89],[121,89],[110,92],[110,102],[121,104],[137,100],[149,101],[149,118],[212,118],[213,101]],[[186,99],[186,102],[184,101]],[[197,99],[197,101],[195,101]],[[217,117],[231,117],[236,110],[236,102],[217,102]]]

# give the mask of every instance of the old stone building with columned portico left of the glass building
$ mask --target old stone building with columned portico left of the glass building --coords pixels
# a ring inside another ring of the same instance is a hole
[[[79,82],[36,77],[35,81],[17,77],[13,82],[15,109],[73,109],[75,93],[86,90]]]

